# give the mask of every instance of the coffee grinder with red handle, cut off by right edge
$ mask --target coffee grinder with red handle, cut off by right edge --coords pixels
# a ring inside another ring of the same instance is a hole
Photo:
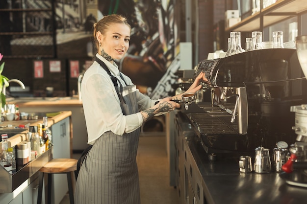
[[[305,76],[307,75],[307,36],[296,38],[298,59]],[[295,124],[292,127],[296,141],[290,146],[290,159],[282,166],[280,173],[286,183],[294,186],[307,187],[307,104],[291,106],[295,113]]]

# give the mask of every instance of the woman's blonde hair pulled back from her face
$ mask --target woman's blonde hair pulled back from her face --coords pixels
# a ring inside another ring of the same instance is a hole
[[[98,31],[100,31],[102,33],[102,35],[105,34],[106,30],[109,29],[109,27],[112,24],[115,23],[124,23],[126,25],[128,25],[128,27],[131,29],[130,24],[128,23],[128,20],[118,14],[111,14],[108,16],[104,16],[98,23],[94,23],[93,27],[94,27],[94,45],[96,45],[96,49],[99,50],[99,42],[96,38],[96,33]]]

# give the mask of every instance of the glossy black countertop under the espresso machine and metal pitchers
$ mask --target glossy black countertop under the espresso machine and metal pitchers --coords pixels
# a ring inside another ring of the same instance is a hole
[[[192,134],[188,119],[180,121],[189,154],[201,173],[208,204],[303,204],[307,188],[287,184],[279,173],[241,173],[238,156],[219,156],[209,161],[199,137]]]

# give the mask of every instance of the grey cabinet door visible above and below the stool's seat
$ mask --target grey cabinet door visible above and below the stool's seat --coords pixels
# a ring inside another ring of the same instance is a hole
[[[53,158],[70,158],[70,118],[51,126]],[[53,174],[53,204],[59,204],[68,192],[66,174]]]

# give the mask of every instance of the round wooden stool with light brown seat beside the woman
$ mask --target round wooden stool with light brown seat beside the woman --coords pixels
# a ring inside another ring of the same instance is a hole
[[[43,166],[39,171],[39,188],[37,204],[42,203],[42,193],[43,193],[43,181],[44,173],[48,174],[48,204],[51,204],[51,186],[52,186],[52,174],[67,174],[67,182],[69,189],[69,200],[70,204],[74,204],[74,190],[72,182],[72,172],[75,172],[75,178],[77,180],[77,159],[51,159],[45,166]]]

